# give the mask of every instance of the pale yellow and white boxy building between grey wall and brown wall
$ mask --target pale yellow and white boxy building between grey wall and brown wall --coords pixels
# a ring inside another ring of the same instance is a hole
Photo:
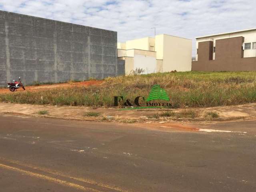
[[[142,68],[146,74],[190,71],[192,40],[161,34],[118,43],[118,58],[125,60],[126,75]]]

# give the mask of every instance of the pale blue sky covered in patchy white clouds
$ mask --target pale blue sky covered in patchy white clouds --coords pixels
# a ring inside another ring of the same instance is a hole
[[[0,9],[115,30],[118,41],[256,28],[256,0],[0,0]],[[193,50],[193,55],[195,51]]]

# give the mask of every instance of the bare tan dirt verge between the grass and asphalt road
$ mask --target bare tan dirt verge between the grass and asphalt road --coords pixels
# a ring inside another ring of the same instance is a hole
[[[38,112],[47,111],[48,114],[40,115]],[[179,113],[187,109],[173,109],[175,113]],[[152,119],[150,116],[162,113],[158,111],[138,111],[138,110],[125,110],[120,111],[116,108],[97,108],[92,109],[89,107],[74,107],[74,106],[52,106],[52,105],[31,105],[31,104],[14,104],[14,103],[0,103],[0,113],[8,114],[22,114],[28,116],[41,116],[50,118],[62,118],[69,120],[89,120],[89,121],[117,121],[117,122],[144,122],[154,124],[155,122],[164,126],[165,123],[175,121],[179,122],[213,122],[213,121],[233,121],[233,120],[255,120],[256,119],[256,104],[246,104],[238,106],[220,106],[212,108],[190,108],[194,110],[198,116],[196,118],[158,118]],[[98,113],[97,117],[88,117],[85,114],[88,112]],[[216,112],[219,117],[208,120],[204,117],[207,112]]]

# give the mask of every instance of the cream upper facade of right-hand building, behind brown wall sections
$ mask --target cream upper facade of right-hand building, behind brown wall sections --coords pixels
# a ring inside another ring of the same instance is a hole
[[[214,34],[201,36],[196,38],[196,60],[198,60],[198,44],[200,42],[212,41],[213,42],[213,54],[212,58],[215,60],[216,52],[216,40],[244,37],[244,43],[242,45],[242,50],[244,50],[244,58],[256,57],[256,28],[234,31],[228,33]]]

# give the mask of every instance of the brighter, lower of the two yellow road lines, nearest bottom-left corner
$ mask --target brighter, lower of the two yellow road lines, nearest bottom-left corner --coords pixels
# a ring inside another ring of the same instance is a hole
[[[0,164],[0,168],[4,168],[4,169],[7,169],[7,170],[13,170],[13,171],[16,171],[16,172],[20,172],[22,174],[26,174],[26,175],[31,176],[31,177],[36,177],[36,178],[39,178],[39,179],[48,180],[50,182],[60,184],[60,185],[63,185],[63,186],[72,187],[72,188],[75,188],[75,189],[78,189],[78,190],[90,191],[90,192],[91,191],[100,192],[99,190],[84,187],[84,186],[81,186],[81,185],[78,185],[78,184],[75,184],[75,183],[70,183],[70,182],[67,182],[67,181],[52,178],[52,177],[42,175],[42,174],[38,174],[38,173],[33,173],[33,172],[30,172],[30,171],[22,170],[22,169],[12,167],[12,166],[8,166],[8,165],[4,165],[4,164]]]

